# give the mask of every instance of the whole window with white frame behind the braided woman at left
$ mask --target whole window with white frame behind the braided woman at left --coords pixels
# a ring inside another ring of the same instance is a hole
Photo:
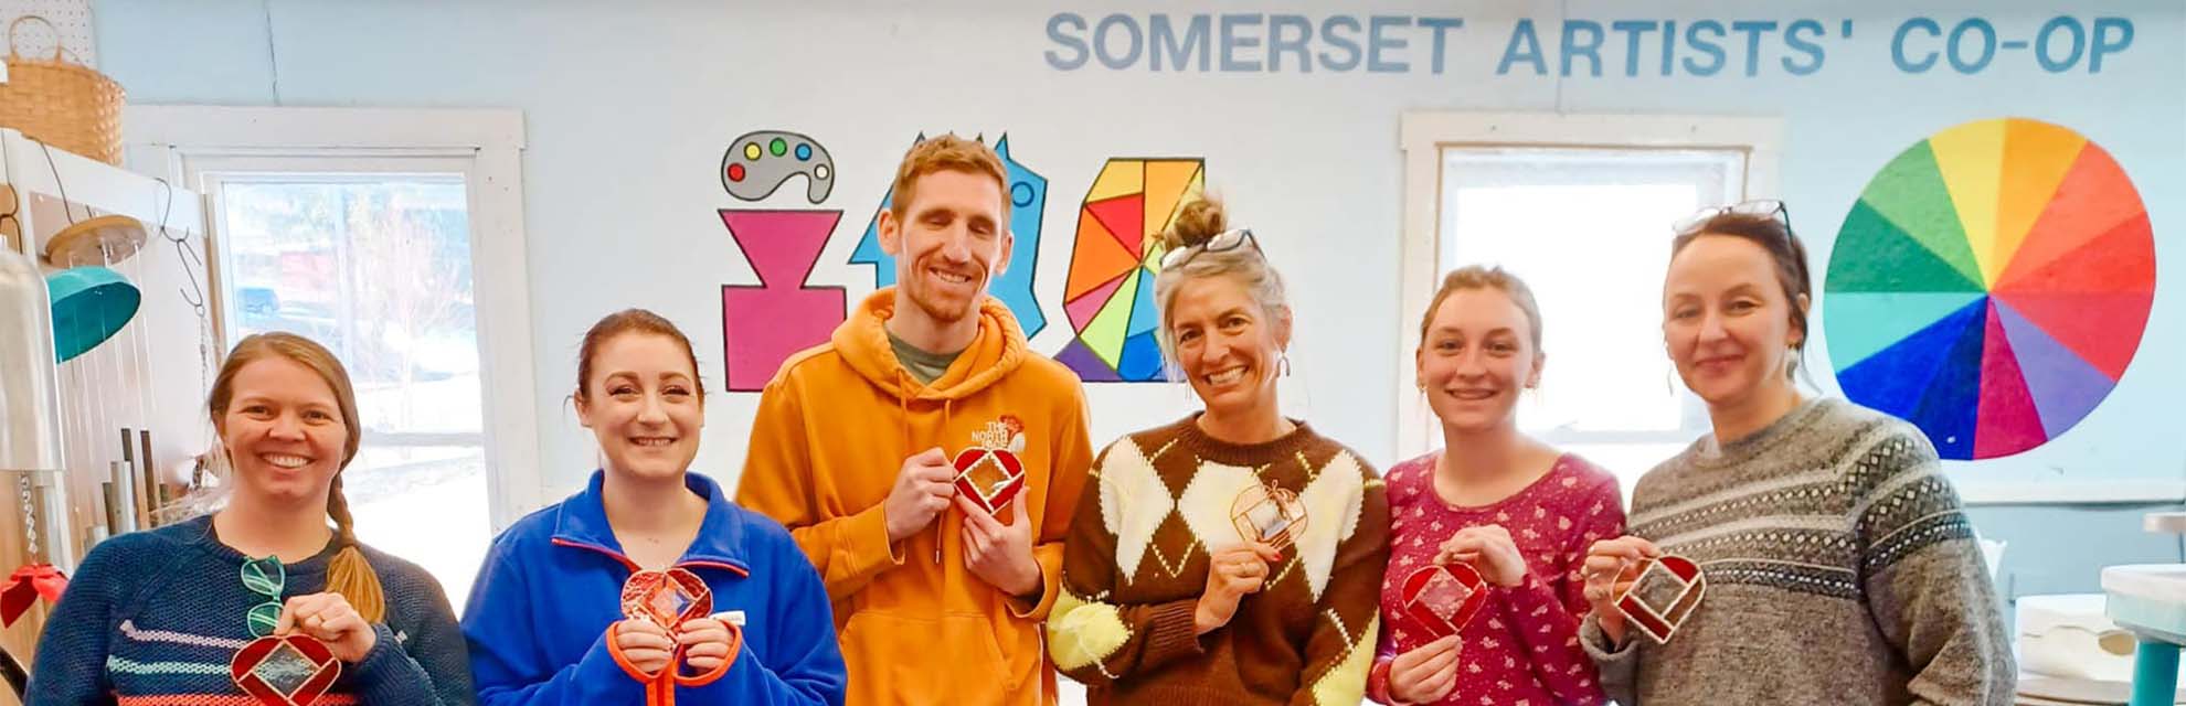
[[[343,470],[356,533],[461,605],[494,531],[540,505],[520,118],[153,107],[129,120],[208,197],[223,348],[286,330],[341,358],[365,428]]]

